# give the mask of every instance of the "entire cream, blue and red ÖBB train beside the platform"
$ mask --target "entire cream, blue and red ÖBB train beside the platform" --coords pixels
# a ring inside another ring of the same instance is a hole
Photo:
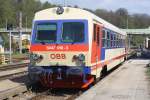
[[[39,11],[33,20],[29,76],[48,88],[87,88],[126,57],[126,33],[79,8]]]

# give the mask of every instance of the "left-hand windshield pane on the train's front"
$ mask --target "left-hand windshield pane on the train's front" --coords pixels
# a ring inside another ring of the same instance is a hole
[[[36,42],[53,42],[57,41],[57,23],[45,22],[36,25]]]

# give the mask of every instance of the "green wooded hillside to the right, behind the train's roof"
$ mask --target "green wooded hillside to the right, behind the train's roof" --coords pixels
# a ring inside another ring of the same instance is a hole
[[[107,11],[105,9],[95,10],[95,14],[119,28],[148,28],[150,26],[150,16],[147,14],[132,14],[124,8],[116,11]]]

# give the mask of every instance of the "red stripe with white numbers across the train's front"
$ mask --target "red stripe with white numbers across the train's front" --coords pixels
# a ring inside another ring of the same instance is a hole
[[[89,46],[85,44],[34,44],[30,51],[88,51]]]

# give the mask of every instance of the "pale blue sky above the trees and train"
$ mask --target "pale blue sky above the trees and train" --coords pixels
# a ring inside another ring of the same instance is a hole
[[[145,13],[150,15],[150,0],[40,0],[52,4],[78,5],[81,8],[107,9],[115,11],[118,8],[126,8],[130,14]]]

